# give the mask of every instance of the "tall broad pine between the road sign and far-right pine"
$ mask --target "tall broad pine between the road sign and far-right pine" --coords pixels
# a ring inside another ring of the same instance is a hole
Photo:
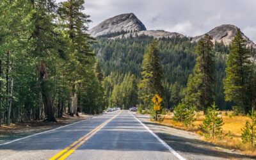
[[[193,74],[189,76],[185,102],[206,111],[213,102],[214,79],[214,52],[212,38],[205,35],[196,45],[196,65]]]

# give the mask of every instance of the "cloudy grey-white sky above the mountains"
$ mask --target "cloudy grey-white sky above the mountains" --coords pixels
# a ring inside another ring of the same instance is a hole
[[[196,36],[234,24],[256,42],[255,0],[85,0],[84,5],[93,20],[90,28],[115,15],[134,13],[147,29]]]

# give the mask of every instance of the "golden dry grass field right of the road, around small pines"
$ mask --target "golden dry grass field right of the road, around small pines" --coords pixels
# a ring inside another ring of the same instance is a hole
[[[210,141],[220,147],[228,148],[230,150],[237,150],[243,152],[244,154],[256,155],[256,149],[250,147],[250,145],[244,145],[241,141],[241,129],[244,127],[246,120],[250,121],[247,116],[232,116],[231,111],[221,111],[221,117],[223,118],[223,139],[221,140],[203,140]],[[200,124],[202,124],[205,116],[202,112],[198,112],[195,115],[195,122],[193,122],[193,127],[185,127],[180,122],[175,122],[172,119],[173,113],[168,113],[164,116],[163,122],[161,124],[169,125],[177,129],[183,129],[186,131],[196,132],[202,135],[200,130]]]

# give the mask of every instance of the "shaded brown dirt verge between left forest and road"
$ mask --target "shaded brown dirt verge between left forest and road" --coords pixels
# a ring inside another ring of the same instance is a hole
[[[0,144],[5,143],[6,141],[28,136],[30,134],[35,134],[37,132],[44,132],[50,129],[61,127],[63,125],[72,124],[74,122],[85,120],[90,117],[90,115],[63,115],[63,117],[57,118],[58,123],[35,120],[18,124],[2,125],[0,127]]]

